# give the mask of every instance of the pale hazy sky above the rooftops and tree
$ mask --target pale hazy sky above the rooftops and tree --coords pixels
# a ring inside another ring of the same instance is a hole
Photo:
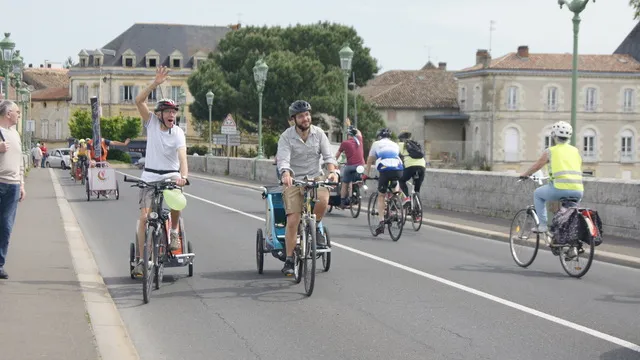
[[[8,11],[7,3],[8,2]],[[531,53],[572,51],[572,13],[557,0],[42,0],[3,1],[2,32],[11,32],[26,63],[77,61],[82,48],[107,44],[135,22],[194,25],[281,25],[332,21],[353,26],[382,71],[419,69],[428,60],[451,70],[472,66],[475,52],[492,55],[528,45]],[[7,16],[7,14],[14,14]],[[582,13],[580,52],[610,54],[635,26],[627,0],[589,2]]]

